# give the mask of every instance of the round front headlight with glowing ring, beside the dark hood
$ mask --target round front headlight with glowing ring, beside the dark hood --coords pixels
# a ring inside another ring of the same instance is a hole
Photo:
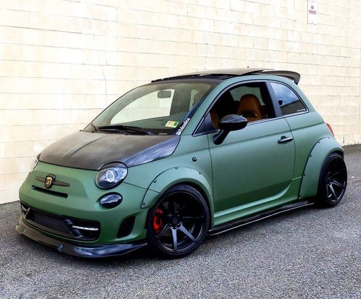
[[[109,163],[99,170],[95,183],[99,188],[108,189],[123,182],[128,174],[128,168],[123,163]]]

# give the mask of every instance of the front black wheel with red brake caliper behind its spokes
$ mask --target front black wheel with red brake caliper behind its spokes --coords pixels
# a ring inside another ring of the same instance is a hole
[[[194,252],[209,227],[206,200],[197,189],[179,184],[168,189],[151,209],[147,223],[149,245],[167,258]]]

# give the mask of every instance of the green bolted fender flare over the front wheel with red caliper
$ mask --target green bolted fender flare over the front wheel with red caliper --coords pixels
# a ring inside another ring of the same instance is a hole
[[[142,201],[142,208],[152,207],[159,197],[170,187],[176,184],[194,184],[202,189],[206,195],[206,202],[209,205],[211,226],[213,226],[213,192],[211,184],[199,171],[189,167],[172,167],[159,174],[149,185]]]

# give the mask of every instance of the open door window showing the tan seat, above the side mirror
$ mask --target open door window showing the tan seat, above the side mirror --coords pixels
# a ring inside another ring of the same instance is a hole
[[[209,114],[215,129],[219,128],[219,120],[230,114],[242,115],[249,123],[274,117],[265,82],[245,83],[224,92]]]

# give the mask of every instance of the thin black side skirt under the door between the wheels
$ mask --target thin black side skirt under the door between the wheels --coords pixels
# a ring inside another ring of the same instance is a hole
[[[222,233],[222,232],[226,232],[228,230],[233,230],[236,228],[239,228],[241,226],[286,212],[286,211],[290,211],[290,210],[294,210],[296,208],[299,207],[306,207],[306,206],[311,206],[313,205],[313,202],[311,201],[302,201],[302,202],[297,202],[294,204],[289,204],[289,205],[285,205],[282,207],[278,207],[276,209],[270,210],[270,211],[266,211],[266,212],[262,212],[256,215],[253,215],[251,217],[247,217],[247,218],[243,218],[243,219],[237,219],[235,221],[232,222],[228,222],[226,224],[220,225],[218,227],[215,227],[211,230],[208,231],[208,235],[209,236],[214,236],[216,234]]]

